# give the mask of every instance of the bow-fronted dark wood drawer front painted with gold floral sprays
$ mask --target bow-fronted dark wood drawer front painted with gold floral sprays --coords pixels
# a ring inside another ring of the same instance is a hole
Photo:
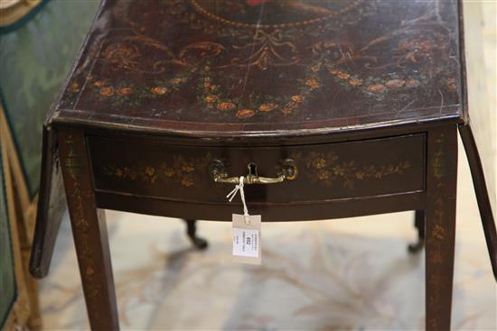
[[[230,176],[277,177],[286,159],[293,180],[246,186],[249,202],[306,203],[415,192],[425,189],[425,134],[347,143],[273,147],[212,147],[145,143],[89,136],[98,191],[186,202],[227,203],[232,184],[215,183],[210,163]],[[235,201],[239,201],[237,198]]]

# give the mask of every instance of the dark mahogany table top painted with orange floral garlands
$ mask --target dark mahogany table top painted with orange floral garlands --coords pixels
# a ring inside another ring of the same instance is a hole
[[[216,137],[462,122],[460,10],[104,1],[48,123]]]

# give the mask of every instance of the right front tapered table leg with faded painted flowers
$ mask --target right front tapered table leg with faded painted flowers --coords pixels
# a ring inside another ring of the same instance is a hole
[[[427,330],[450,329],[457,186],[456,127],[428,132],[426,208]]]

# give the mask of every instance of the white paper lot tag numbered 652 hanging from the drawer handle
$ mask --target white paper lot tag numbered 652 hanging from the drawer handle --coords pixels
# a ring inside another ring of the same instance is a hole
[[[260,215],[233,214],[233,262],[260,264]]]

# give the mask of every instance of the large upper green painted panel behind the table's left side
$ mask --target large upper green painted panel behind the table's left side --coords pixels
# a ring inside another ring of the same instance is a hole
[[[38,191],[42,123],[97,13],[99,0],[51,0],[0,30],[0,93],[32,197]]]

